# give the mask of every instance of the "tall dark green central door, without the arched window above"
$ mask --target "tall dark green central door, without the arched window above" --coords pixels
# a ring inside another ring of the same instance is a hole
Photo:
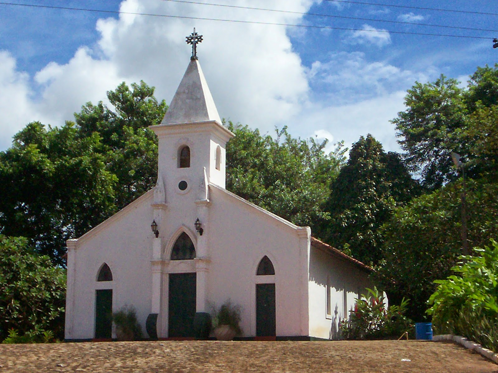
[[[193,337],[196,274],[169,274],[168,337]]]

